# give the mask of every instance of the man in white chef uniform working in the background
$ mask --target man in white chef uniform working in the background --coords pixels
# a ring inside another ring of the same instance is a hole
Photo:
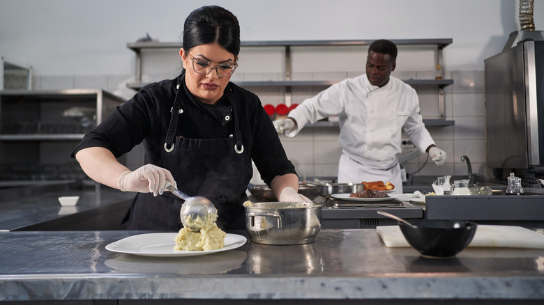
[[[391,77],[395,70],[397,46],[376,40],[368,49],[366,74],[345,79],[315,97],[304,100],[287,118],[274,121],[278,132],[298,134],[308,122],[338,116],[342,155],[338,182],[391,182],[402,193],[400,164],[401,131],[437,165],[446,153],[435,146],[423,124],[418,95],[404,81]]]

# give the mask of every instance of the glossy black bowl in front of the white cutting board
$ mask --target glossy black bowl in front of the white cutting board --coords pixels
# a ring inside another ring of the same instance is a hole
[[[447,219],[411,219],[408,226],[399,222],[407,242],[422,256],[451,258],[463,251],[474,237],[478,224]]]

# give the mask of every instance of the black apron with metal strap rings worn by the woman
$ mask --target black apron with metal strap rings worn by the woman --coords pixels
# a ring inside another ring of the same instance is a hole
[[[176,136],[179,114],[183,113],[183,79],[178,86],[163,153],[157,166],[168,169],[180,191],[208,198],[218,210],[217,224],[223,230],[245,228],[243,202],[253,169],[243,152],[236,101],[225,89],[234,109],[234,135],[226,139],[187,139]],[[179,210],[184,201],[169,191],[163,195],[138,193],[128,212],[128,230],[179,230]]]

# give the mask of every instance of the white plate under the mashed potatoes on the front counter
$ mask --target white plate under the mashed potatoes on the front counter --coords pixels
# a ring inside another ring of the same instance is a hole
[[[206,254],[228,251],[243,246],[248,240],[242,235],[229,234],[225,237],[225,247],[209,251],[174,250],[174,238],[178,233],[148,233],[134,235],[112,242],[106,250],[135,254],[137,256],[203,256]]]

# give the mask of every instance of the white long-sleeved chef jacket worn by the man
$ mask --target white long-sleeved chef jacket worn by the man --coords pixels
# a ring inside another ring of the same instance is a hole
[[[416,91],[395,77],[382,87],[370,84],[366,74],[345,79],[289,112],[298,124],[296,133],[329,116],[339,118],[342,154],[372,169],[388,171],[398,165],[401,130],[421,153],[435,144],[423,124]]]

